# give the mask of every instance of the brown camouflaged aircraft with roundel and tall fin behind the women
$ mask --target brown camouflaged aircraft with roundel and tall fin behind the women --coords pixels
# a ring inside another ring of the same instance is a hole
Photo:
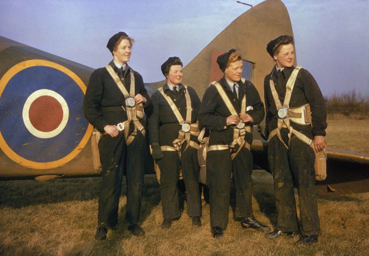
[[[270,13],[278,15],[270,15]],[[262,32],[260,32],[262,31]],[[222,76],[216,57],[236,48],[244,76],[263,98],[263,79],[273,61],[265,51],[271,38],[293,35],[286,7],[266,0],[237,17],[184,67],[184,84],[202,97]],[[92,164],[92,126],[82,102],[93,69],[0,36],[0,180],[97,176]],[[296,63],[294,63],[296,65]],[[164,81],[146,84],[151,94]],[[254,162],[268,170],[266,142],[251,145]],[[153,173],[152,159],[147,173]],[[319,194],[367,192],[368,156],[328,150],[328,177]]]

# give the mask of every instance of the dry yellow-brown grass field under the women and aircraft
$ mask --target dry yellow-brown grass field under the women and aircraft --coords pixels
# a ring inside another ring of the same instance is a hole
[[[330,148],[369,154],[369,120],[329,120]],[[256,219],[276,225],[272,177],[257,170],[253,211]],[[134,237],[124,221],[125,186],[119,225],[105,241],[95,241],[100,177],[0,181],[0,255],[369,255],[369,193],[318,196],[322,233],[316,246],[295,248],[297,236],[269,241],[264,233],[230,221],[222,239],[210,233],[209,205],[203,203],[203,226],[194,228],[185,211],[163,231],[159,185],[145,176],[141,225]],[[185,204],[186,209],[186,204]]]

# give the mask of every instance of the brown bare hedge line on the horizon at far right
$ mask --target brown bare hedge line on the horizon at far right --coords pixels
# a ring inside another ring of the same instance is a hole
[[[347,116],[354,119],[369,118],[369,95],[357,95],[355,91],[324,97],[329,117]]]

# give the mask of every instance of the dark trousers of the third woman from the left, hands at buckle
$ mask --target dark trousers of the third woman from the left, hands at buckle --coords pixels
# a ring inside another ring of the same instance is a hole
[[[210,226],[227,228],[231,195],[231,174],[236,189],[235,216],[252,216],[252,155],[243,148],[234,160],[229,150],[210,151],[206,158],[209,187]]]

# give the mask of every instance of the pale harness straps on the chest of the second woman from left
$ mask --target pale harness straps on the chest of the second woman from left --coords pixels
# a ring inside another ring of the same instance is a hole
[[[187,145],[186,145],[186,148],[184,149],[184,151],[188,147],[193,147],[193,148],[196,148],[196,149],[199,148],[199,145],[196,142],[191,142],[191,140],[190,140],[191,139],[191,134],[194,135],[194,136],[198,136],[200,131],[199,131],[199,124],[198,123],[192,123],[191,124],[191,112],[192,112],[191,97],[190,97],[190,93],[188,92],[187,85],[184,85],[184,87],[185,87],[185,90],[186,90],[185,91],[186,121],[183,120],[183,117],[182,117],[181,113],[179,112],[177,106],[174,104],[172,98],[165,94],[165,92],[163,90],[163,87],[158,88],[158,91],[161,93],[161,95],[163,95],[164,99],[168,102],[168,104],[169,104],[170,108],[172,109],[173,114],[177,118],[179,124],[182,125],[182,129],[179,131],[178,138],[175,139],[172,142],[173,146],[174,146],[173,148],[178,152],[179,157],[181,157],[181,147],[182,147],[182,144],[185,141],[187,142]],[[189,130],[188,131],[183,131],[183,125],[189,125]],[[169,146],[165,146],[165,147],[169,147]]]

